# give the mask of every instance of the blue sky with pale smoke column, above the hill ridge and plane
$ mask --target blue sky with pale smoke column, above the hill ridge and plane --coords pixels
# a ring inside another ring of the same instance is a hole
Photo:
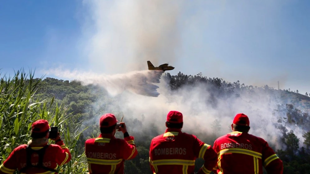
[[[310,92],[310,1],[159,1],[155,10],[141,4],[3,1],[1,73],[31,68],[40,77],[62,67],[114,74],[131,65],[146,69],[151,60],[169,62],[171,74],[275,88],[280,81],[282,89]]]

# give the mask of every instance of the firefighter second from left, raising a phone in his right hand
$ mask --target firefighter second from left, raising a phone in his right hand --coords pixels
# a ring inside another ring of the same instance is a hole
[[[129,136],[125,123],[116,127],[118,120],[114,114],[104,114],[100,118],[100,132],[97,138],[85,142],[85,153],[90,174],[123,174],[124,160],[138,154],[134,137]],[[115,132],[122,131],[124,139],[115,138]]]

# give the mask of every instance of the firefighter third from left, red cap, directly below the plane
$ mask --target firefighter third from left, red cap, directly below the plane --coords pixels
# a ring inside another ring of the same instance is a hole
[[[181,131],[183,115],[170,111],[164,134],[153,138],[150,144],[150,168],[154,174],[193,174],[195,159],[203,158],[204,165],[199,174],[209,174],[217,162],[217,155],[210,145],[200,141],[195,135]]]

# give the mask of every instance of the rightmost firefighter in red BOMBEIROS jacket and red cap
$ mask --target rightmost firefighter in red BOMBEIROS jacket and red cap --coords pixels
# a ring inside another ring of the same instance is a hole
[[[250,121],[247,115],[237,114],[231,124],[233,132],[215,140],[213,149],[218,163],[213,172],[218,174],[282,174],[283,164],[268,143],[248,133]]]

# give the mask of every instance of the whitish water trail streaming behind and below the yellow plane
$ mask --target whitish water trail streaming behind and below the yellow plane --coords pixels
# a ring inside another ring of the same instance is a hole
[[[49,69],[47,74],[54,74],[60,78],[78,79],[83,85],[95,84],[104,87],[111,95],[115,96],[124,90],[136,94],[157,97],[159,79],[163,71],[133,71],[127,74],[95,74],[92,72],[81,73],[80,71],[70,72],[69,70]]]

